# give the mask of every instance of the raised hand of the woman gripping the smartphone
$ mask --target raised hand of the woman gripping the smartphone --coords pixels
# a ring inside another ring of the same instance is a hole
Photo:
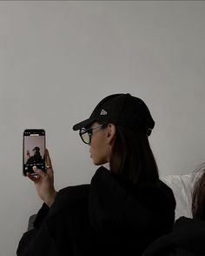
[[[36,175],[34,176],[27,173],[27,177],[34,182],[39,197],[43,199],[46,205],[51,206],[56,199],[56,190],[54,187],[54,172],[48,150],[46,150],[45,159],[47,172],[33,167],[33,171],[36,172]]]

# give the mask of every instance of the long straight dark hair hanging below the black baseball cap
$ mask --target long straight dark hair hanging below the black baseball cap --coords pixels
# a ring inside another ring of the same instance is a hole
[[[116,138],[109,161],[110,172],[122,183],[155,184],[159,180],[158,168],[149,145],[147,134],[136,129],[116,126]]]

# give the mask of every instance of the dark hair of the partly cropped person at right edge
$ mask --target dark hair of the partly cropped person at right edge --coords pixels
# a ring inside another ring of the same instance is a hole
[[[205,220],[205,163],[196,172],[197,179],[192,193],[192,215],[194,219]]]

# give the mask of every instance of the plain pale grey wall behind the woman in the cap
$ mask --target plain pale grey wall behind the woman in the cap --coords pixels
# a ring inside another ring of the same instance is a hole
[[[161,175],[202,164],[204,45],[203,2],[0,2],[0,255],[42,204],[22,176],[25,128],[46,130],[57,190],[88,183],[96,166],[72,126],[129,92],[155,119]]]

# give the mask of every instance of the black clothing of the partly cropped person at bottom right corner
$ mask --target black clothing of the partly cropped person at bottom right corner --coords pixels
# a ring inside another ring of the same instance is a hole
[[[205,221],[181,217],[173,231],[149,246],[142,256],[204,256]]]

